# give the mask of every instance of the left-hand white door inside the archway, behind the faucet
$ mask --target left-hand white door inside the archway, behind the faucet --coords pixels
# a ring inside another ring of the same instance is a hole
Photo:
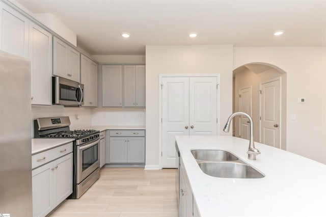
[[[252,89],[251,87],[240,89],[239,95],[239,111],[247,113],[252,116]],[[249,119],[243,115],[239,116],[239,130],[240,130],[240,138],[249,140],[250,138],[250,122]]]

